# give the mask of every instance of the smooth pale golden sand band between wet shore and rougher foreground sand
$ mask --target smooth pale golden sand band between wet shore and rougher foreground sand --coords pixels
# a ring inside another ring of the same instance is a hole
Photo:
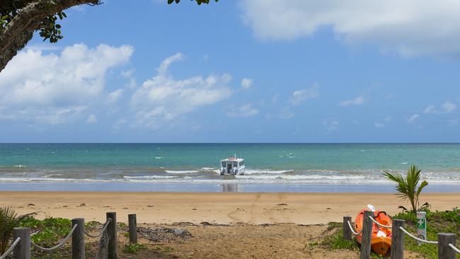
[[[432,210],[459,205],[460,193],[423,193]],[[369,192],[0,192],[0,204],[19,214],[40,212],[38,218],[83,217],[105,221],[117,212],[118,221],[137,214],[139,224],[327,224],[352,218],[367,204],[389,214],[406,205],[393,193]]]

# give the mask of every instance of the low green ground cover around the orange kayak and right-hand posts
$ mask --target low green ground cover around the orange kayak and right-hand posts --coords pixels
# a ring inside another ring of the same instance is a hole
[[[417,220],[417,217],[413,212],[399,213],[394,215],[392,218],[406,220],[406,229],[413,234],[417,232],[415,229],[415,221]],[[359,250],[358,243],[355,241],[355,239],[352,241],[346,241],[343,239],[342,227],[342,223],[330,222],[328,224],[328,231],[331,231],[332,234],[325,236],[321,241],[314,241],[309,243],[309,248],[320,246],[321,248],[330,250]],[[437,234],[439,232],[454,233],[457,237],[460,236],[460,209],[454,208],[444,212],[427,211],[427,239],[436,241]],[[460,238],[456,239],[456,246],[460,247]],[[417,241],[413,240],[413,238],[410,238],[409,236],[404,238],[404,249],[406,251],[418,253],[421,258],[437,258],[436,245],[422,244],[422,246],[418,246]],[[381,256],[372,253],[372,258],[381,258]],[[460,258],[460,255],[456,255],[456,258]]]

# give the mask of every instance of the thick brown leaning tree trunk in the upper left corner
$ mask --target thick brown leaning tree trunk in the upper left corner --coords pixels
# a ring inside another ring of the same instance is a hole
[[[64,11],[71,6],[96,4],[97,2],[95,0],[54,0],[52,4],[51,0],[30,1],[18,11],[5,30],[0,33],[0,72],[32,39],[33,33],[40,29],[40,24],[45,17]]]

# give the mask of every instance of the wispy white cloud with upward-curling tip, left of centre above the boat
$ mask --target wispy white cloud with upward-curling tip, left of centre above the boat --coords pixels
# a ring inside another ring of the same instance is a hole
[[[180,53],[165,59],[157,69],[158,74],[144,81],[133,93],[131,106],[136,113],[137,126],[156,129],[161,122],[171,122],[180,115],[231,96],[229,74],[174,79],[168,74],[168,67],[181,59],[183,54]]]

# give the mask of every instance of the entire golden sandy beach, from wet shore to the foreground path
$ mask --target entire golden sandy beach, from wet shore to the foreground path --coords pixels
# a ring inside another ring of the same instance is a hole
[[[459,193],[426,193],[422,201],[443,210],[459,205],[459,198]],[[20,214],[39,212],[40,219],[104,222],[105,212],[115,211],[119,222],[135,213],[138,227],[190,233],[163,241],[141,237],[148,249],[136,257],[120,251],[120,258],[357,258],[357,250],[331,251],[311,243],[338,230],[328,222],[354,218],[367,203],[389,214],[401,205],[391,193],[0,192],[1,205]],[[119,227],[120,243],[127,243],[127,229]],[[92,255],[97,241],[88,242]],[[406,251],[406,258],[418,256]]]

